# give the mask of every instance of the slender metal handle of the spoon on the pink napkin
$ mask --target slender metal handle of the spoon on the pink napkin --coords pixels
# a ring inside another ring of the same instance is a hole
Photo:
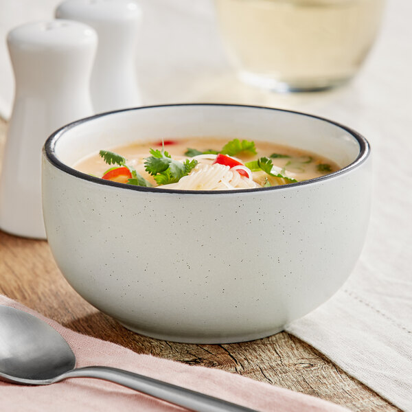
[[[208,396],[204,393],[192,391],[167,382],[162,382],[161,380],[133,374],[133,372],[113,367],[91,366],[72,369],[71,371],[62,374],[57,380],[80,377],[98,378],[115,382],[124,387],[147,393],[155,398],[165,400],[196,412],[256,412],[253,409],[241,407],[240,405],[214,398],[213,396]]]

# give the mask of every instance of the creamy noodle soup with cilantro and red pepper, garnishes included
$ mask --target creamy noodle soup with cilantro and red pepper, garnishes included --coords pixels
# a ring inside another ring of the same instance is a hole
[[[339,170],[304,150],[264,141],[179,139],[119,146],[73,168],[105,180],[174,190],[239,190],[287,185]]]

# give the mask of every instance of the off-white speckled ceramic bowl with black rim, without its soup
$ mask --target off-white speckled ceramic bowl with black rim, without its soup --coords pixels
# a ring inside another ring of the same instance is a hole
[[[141,139],[219,136],[310,150],[341,166],[264,189],[190,192],[73,170]],[[47,237],[67,281],[135,332],[229,343],[281,331],[329,299],[361,253],[370,198],[367,141],[325,119],[273,108],[183,104],[69,124],[43,151]]]

